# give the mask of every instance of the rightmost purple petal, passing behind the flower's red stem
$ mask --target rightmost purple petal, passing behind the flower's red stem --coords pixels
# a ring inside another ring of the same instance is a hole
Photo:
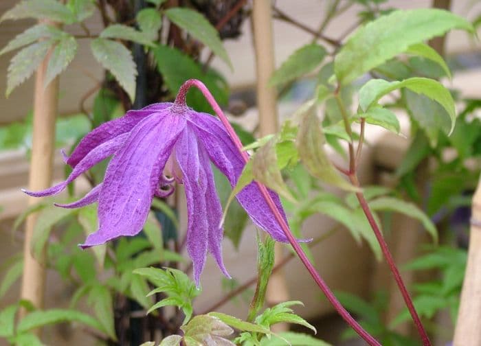
[[[227,176],[230,184],[234,187],[245,163],[236,146],[234,146],[234,142],[223,128],[222,123],[211,115],[194,112],[189,113],[188,121],[195,125],[194,129],[197,132],[197,136],[201,139],[212,162]],[[282,218],[287,223],[279,196],[270,190],[269,194],[276,207],[278,207]],[[287,237],[284,235],[264,198],[262,198],[260,190],[255,183],[250,183],[244,187],[237,194],[236,198],[258,227],[269,233],[278,242],[288,242]]]

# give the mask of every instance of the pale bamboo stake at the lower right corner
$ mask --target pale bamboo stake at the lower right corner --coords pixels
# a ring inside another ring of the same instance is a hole
[[[468,263],[454,330],[454,346],[481,345],[481,179],[472,203]]]

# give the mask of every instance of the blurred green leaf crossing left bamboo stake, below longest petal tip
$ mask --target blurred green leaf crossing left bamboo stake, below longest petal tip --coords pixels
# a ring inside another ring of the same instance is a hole
[[[78,209],[58,208],[51,205],[38,214],[32,234],[32,255],[35,258],[41,258],[41,253],[47,246],[52,227],[77,212]]]

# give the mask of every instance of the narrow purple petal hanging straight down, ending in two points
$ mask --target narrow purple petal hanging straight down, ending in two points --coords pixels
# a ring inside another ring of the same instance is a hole
[[[210,160],[190,126],[186,126],[179,137],[175,154],[186,189],[187,251],[194,265],[194,281],[199,286],[208,251],[221,271],[230,277],[222,260],[223,229],[219,227],[222,207],[216,195]]]

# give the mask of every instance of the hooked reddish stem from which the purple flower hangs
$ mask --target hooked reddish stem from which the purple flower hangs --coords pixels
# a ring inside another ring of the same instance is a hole
[[[216,113],[217,116],[219,116],[219,119],[221,120],[222,124],[225,126],[225,129],[229,133],[232,141],[234,141],[234,144],[236,148],[238,149],[240,155],[243,157],[243,160],[245,163],[249,161],[249,157],[247,156],[247,152],[243,151],[243,145],[240,143],[240,139],[237,137],[236,132],[234,131],[234,128],[230,125],[229,121],[227,120],[227,117],[225,117],[223,111],[221,110],[221,107],[219,107],[219,104],[217,104],[216,100],[214,100],[214,97],[210,93],[210,91],[205,87],[205,85],[199,81],[199,80],[187,80],[182,87],[179,89],[179,93],[177,94],[177,97],[175,99],[175,105],[177,106],[185,106],[186,105],[186,93],[190,87],[196,87],[199,89],[206,100],[208,100],[210,106],[212,106],[212,109],[214,109],[214,112]],[[322,277],[317,273],[315,270],[313,264],[309,261],[307,258],[306,254],[302,250],[301,246],[298,244],[297,240],[295,240],[293,234],[291,233],[289,227],[287,226],[287,223],[284,221],[282,216],[280,215],[280,212],[278,211],[276,205],[274,204],[271,196],[269,196],[269,193],[267,192],[267,187],[256,181],[256,185],[258,186],[260,193],[264,197],[267,205],[269,205],[269,208],[273,212],[277,222],[279,223],[280,227],[282,228],[282,231],[286,235],[287,239],[289,240],[289,243],[291,243],[291,246],[293,247],[295,253],[297,253],[298,257],[306,267],[306,269],[309,271],[311,276],[313,277],[315,283],[319,288],[324,292],[324,295],[328,299],[328,301],[333,305],[335,310],[342,316],[342,318],[363,338],[369,345],[372,346],[381,346],[381,344],[374,338],[372,337],[366,330],[363,330],[363,327],[357,323],[355,319],[353,319],[353,316],[349,314],[349,312],[342,306],[341,303],[337,300],[333,292],[328,288]]]

